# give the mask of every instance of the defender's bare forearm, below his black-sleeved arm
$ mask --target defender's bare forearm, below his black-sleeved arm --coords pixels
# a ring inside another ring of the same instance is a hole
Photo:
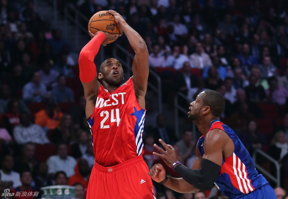
[[[199,189],[187,183],[183,178],[174,178],[169,176],[164,185],[179,193],[197,193],[199,191]]]

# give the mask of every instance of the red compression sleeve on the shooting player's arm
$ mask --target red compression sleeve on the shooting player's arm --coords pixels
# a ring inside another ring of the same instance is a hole
[[[97,71],[94,58],[105,38],[105,34],[99,32],[82,48],[79,55],[79,76],[82,82],[91,82],[95,78]]]

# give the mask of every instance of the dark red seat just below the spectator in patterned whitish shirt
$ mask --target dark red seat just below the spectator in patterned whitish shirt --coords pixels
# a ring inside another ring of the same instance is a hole
[[[50,156],[56,154],[55,144],[37,144],[35,157],[41,162],[45,162]]]

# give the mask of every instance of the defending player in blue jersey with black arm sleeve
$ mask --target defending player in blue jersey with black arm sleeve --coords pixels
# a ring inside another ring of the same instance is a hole
[[[253,160],[237,135],[219,121],[224,111],[225,100],[217,91],[206,90],[190,103],[188,118],[203,136],[196,145],[197,158],[192,169],[179,162],[171,145],[160,141],[165,151],[153,152],[176,170],[182,178],[167,177],[161,164],[155,164],[149,175],[156,182],[180,193],[197,193],[209,190],[215,184],[229,199],[276,199],[275,192],[267,180],[258,174]]]

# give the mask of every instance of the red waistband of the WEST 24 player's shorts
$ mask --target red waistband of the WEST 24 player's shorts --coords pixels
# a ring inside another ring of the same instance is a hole
[[[117,165],[111,166],[111,167],[103,167],[103,166],[97,164],[96,162],[94,162],[94,168],[99,170],[99,171],[105,172],[105,173],[113,173],[113,172],[119,171],[121,169],[124,169],[126,167],[129,167],[133,164],[137,164],[139,162],[144,162],[142,155],[134,157],[130,160],[126,160],[125,162],[121,162],[120,164],[117,164]]]

